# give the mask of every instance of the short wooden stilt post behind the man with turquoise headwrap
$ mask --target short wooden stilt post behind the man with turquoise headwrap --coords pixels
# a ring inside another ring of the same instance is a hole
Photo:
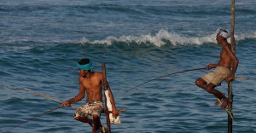
[[[105,90],[108,90],[105,63],[102,63],[102,74],[103,74],[103,89],[105,91]],[[105,113],[106,113],[106,119],[107,119],[107,125],[108,125],[108,133],[111,133],[109,111],[108,111],[108,106],[107,106],[107,97],[106,97],[106,95],[105,95]]]

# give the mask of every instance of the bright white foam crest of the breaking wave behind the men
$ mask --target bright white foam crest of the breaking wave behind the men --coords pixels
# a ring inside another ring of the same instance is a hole
[[[185,37],[181,34],[177,34],[175,32],[167,32],[166,30],[160,30],[154,35],[145,34],[141,36],[120,36],[113,37],[109,36],[108,38],[102,40],[94,40],[90,41],[87,38],[83,38],[79,43],[92,43],[92,44],[107,44],[111,45],[113,42],[123,42],[123,43],[152,43],[157,47],[165,45],[166,43],[172,43],[172,45],[187,45],[187,44],[196,44],[201,45],[203,43],[216,43],[215,33],[208,34],[204,37]],[[235,35],[236,41],[244,40],[245,38],[256,38],[256,33],[253,34],[241,34]],[[230,42],[230,39],[228,39]]]

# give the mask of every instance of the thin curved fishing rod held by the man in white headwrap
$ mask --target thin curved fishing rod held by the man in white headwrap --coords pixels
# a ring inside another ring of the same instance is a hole
[[[166,75],[162,75],[162,76],[160,76],[158,78],[150,79],[150,80],[144,82],[143,84],[147,84],[147,83],[149,83],[151,81],[154,81],[154,80],[157,80],[159,78],[164,78],[164,77],[167,77],[167,76],[170,76],[170,75],[174,75],[174,74],[177,74],[177,73],[190,72],[190,71],[196,71],[196,70],[204,70],[204,69],[207,69],[207,68],[203,67],[203,68],[195,68],[195,69],[183,70],[183,71],[180,71],[180,72],[173,72],[173,73],[169,73],[169,74],[166,74]],[[142,86],[143,84],[138,84],[137,86],[131,88],[130,90],[125,91],[122,95],[125,95],[126,93],[130,92],[131,90],[135,90],[137,87]],[[119,97],[121,97],[122,95],[119,95]],[[119,97],[117,97],[117,98],[119,98]]]

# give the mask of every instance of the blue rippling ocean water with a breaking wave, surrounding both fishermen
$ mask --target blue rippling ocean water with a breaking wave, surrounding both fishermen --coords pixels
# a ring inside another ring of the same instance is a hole
[[[236,1],[233,132],[256,132],[256,1]],[[90,58],[107,77],[122,124],[113,132],[227,132],[227,113],[195,85],[218,61],[214,32],[230,29],[230,1],[1,0],[0,132],[60,106],[20,88],[66,101],[79,93],[77,61]],[[134,88],[138,84],[143,84]],[[217,88],[227,94],[227,84]],[[79,107],[85,101],[74,106]],[[73,108],[44,114],[11,130],[17,133],[90,132]],[[102,124],[106,125],[105,114]]]

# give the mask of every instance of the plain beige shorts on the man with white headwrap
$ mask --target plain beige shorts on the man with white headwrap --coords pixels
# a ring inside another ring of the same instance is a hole
[[[215,84],[218,86],[225,78],[230,75],[230,69],[226,67],[216,67],[213,72],[209,72],[206,75],[202,75],[201,78],[204,79],[207,84]]]

